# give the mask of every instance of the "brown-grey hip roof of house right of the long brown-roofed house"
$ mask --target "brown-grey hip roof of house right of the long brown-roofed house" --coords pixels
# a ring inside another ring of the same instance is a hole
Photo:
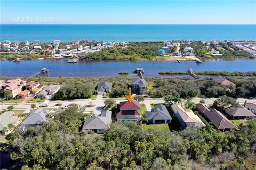
[[[237,107],[230,107],[225,110],[229,116],[255,116],[252,112],[248,111],[244,106],[238,105]]]

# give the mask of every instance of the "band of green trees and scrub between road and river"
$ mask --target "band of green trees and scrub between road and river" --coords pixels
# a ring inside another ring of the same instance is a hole
[[[247,74],[247,73],[245,73]],[[0,77],[1,80],[10,78]],[[95,86],[100,81],[112,82],[111,92],[105,95],[105,98],[119,98],[128,95],[128,87],[131,84],[131,77],[115,77],[115,78],[67,78],[67,77],[33,77],[30,80],[41,82],[42,84],[62,84],[61,90],[54,96],[56,99],[75,99],[77,98],[90,98],[95,94]],[[249,79],[228,77],[226,78],[233,82],[235,86],[227,87],[219,84],[218,82],[202,78],[198,80],[189,78],[160,78],[145,77],[148,83],[146,89],[147,98],[163,98],[167,95],[177,96],[181,98],[187,97],[219,97],[227,95],[230,97],[255,97],[256,96],[256,79],[251,77]],[[71,84],[71,85],[69,85]],[[78,84],[76,86],[75,84]],[[81,88],[81,90],[79,90]],[[85,90],[85,92],[83,92]],[[79,95],[73,95],[77,91]],[[66,94],[66,95],[65,95]]]

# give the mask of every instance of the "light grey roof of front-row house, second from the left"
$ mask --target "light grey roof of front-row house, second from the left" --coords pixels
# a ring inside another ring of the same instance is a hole
[[[38,108],[36,111],[28,115],[28,117],[21,122],[21,125],[26,124],[42,124],[43,122],[47,121],[46,115],[48,111],[42,108]]]

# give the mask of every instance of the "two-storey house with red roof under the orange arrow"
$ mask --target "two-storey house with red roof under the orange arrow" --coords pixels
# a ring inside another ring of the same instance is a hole
[[[117,105],[116,120],[124,123],[125,121],[138,121],[141,118],[139,101],[122,101]]]

